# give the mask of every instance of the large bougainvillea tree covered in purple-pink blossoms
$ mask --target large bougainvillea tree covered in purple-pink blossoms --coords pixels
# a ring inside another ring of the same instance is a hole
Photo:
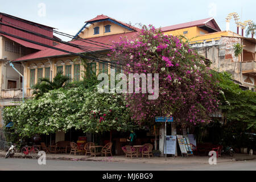
[[[134,39],[114,43],[112,56],[126,65],[128,73],[159,73],[159,97],[127,94],[127,107],[139,124],[158,116],[174,116],[181,123],[209,122],[218,107],[218,88],[214,85],[207,61],[187,44],[164,35],[153,26],[143,26]]]

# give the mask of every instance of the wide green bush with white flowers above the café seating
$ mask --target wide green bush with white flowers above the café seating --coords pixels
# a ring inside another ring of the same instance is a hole
[[[121,94],[100,94],[96,89],[78,88],[51,90],[38,100],[6,107],[3,119],[14,122],[22,136],[49,134],[71,128],[84,132],[127,131],[130,122],[126,101]]]

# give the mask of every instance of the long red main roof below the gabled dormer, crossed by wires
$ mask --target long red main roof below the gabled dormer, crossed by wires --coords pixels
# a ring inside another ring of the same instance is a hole
[[[90,42],[89,40],[93,40],[93,41],[101,42],[101,43],[105,43],[105,44],[113,44],[113,41],[118,42],[120,37],[127,36],[128,39],[132,39],[137,34],[138,34],[138,32],[129,32],[129,33],[126,33],[126,34],[114,34],[114,35],[108,35],[108,36],[99,36],[99,37],[96,37],[96,38],[83,39],[86,42],[82,42],[81,40],[73,40],[69,43],[77,44],[79,46],[85,46],[84,48],[89,48],[90,47],[89,49],[91,51],[100,51],[100,50],[104,50],[104,49],[109,49],[110,46],[106,46],[106,45],[103,45],[103,44],[100,44],[100,43],[95,43],[95,44],[107,47],[107,48],[104,48],[104,47],[101,47],[101,46],[91,44],[93,42]],[[76,47],[68,46],[66,44],[58,44],[55,47],[60,48],[60,49],[64,49],[66,51],[75,52],[75,53],[85,52],[84,50],[81,50],[81,49],[76,48]],[[35,52],[35,53],[30,54],[30,55],[23,56],[23,57],[20,57],[18,59],[15,59],[13,61],[28,61],[28,60],[35,60],[35,59],[47,59],[49,57],[68,56],[68,55],[70,55],[70,54],[66,53],[66,52],[62,52],[62,51],[57,51],[55,49],[47,48],[47,49],[44,49],[43,51]]]

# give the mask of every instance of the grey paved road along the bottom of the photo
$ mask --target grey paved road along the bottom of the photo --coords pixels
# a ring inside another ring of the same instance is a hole
[[[256,160],[241,162],[209,164],[139,164],[139,163],[120,163],[120,162],[84,162],[84,161],[63,161],[47,160],[46,165],[39,165],[38,160],[34,159],[4,159],[0,158],[0,171],[3,170],[89,170],[89,171],[169,171],[169,170],[253,170],[256,171]]]

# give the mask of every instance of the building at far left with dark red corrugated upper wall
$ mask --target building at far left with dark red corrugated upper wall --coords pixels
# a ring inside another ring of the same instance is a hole
[[[35,35],[27,34],[16,28],[23,28],[24,30],[33,31],[53,38],[53,28],[30,22],[12,15],[0,13],[0,114],[5,106],[16,105],[15,101],[22,99],[22,76],[24,67],[20,63],[14,63],[16,72],[10,67],[9,61],[18,59],[19,57],[30,55],[46,49],[43,46],[15,38],[14,36],[32,40],[35,42],[53,45],[52,40],[40,38]],[[12,27],[11,27],[12,26]],[[16,27],[16,28],[14,28]],[[40,28],[42,27],[42,28]],[[10,36],[13,35],[13,36]],[[0,128],[3,126],[1,119]]]

